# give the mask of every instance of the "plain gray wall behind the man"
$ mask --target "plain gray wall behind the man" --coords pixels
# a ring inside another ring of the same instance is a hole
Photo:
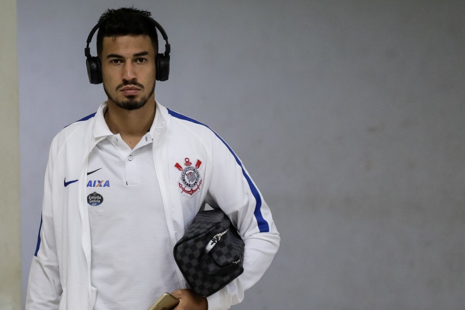
[[[51,138],[105,99],[85,39],[125,4],[18,0],[23,290]],[[157,99],[228,141],[282,233],[233,309],[465,308],[464,1],[134,5],[171,43]]]

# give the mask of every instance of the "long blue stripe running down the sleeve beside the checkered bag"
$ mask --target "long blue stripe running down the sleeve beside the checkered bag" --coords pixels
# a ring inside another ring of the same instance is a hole
[[[192,123],[195,123],[195,124],[199,124],[199,125],[205,126],[205,127],[207,127],[208,129],[211,130],[211,128],[208,127],[207,125],[202,124],[202,123],[200,123],[200,122],[198,122],[198,121],[196,121],[194,119],[191,119],[191,118],[189,118],[189,117],[187,117],[185,115],[179,114],[179,113],[171,111],[169,109],[168,109],[168,113],[169,113],[169,115],[171,115],[171,116],[173,116],[175,118],[185,120],[185,121],[188,121],[188,122],[192,122]],[[224,143],[224,145],[226,145],[228,150],[231,152],[231,154],[236,159],[237,164],[241,167],[242,174],[246,178],[247,183],[249,184],[249,187],[250,187],[250,189],[252,191],[252,194],[255,197],[256,205],[255,205],[254,215],[255,215],[255,219],[257,220],[257,223],[258,223],[258,229],[260,230],[260,232],[269,232],[270,227],[268,225],[268,222],[263,218],[263,215],[261,214],[261,197],[260,197],[260,194],[258,193],[258,189],[255,187],[254,183],[252,182],[252,179],[246,173],[244,167],[242,166],[241,161],[236,156],[234,151],[229,147],[229,145],[217,133],[215,133],[213,130],[211,130],[211,131],[218,137],[218,139],[220,139]]]

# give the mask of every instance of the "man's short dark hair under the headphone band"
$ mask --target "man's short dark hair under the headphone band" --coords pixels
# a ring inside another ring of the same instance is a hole
[[[132,7],[107,9],[98,22],[102,22],[97,33],[97,55],[103,50],[104,37],[127,35],[148,36],[152,41],[155,53],[158,52],[157,29],[152,22],[152,13]]]

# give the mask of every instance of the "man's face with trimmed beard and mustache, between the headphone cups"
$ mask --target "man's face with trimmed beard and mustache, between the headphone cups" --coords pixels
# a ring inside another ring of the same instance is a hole
[[[155,98],[155,55],[148,36],[104,37],[103,89],[117,106],[134,110]]]

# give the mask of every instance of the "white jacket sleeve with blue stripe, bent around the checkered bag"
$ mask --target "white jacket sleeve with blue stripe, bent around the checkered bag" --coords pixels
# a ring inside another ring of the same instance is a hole
[[[268,205],[241,160],[219,136],[213,139],[213,171],[206,202],[221,208],[237,227],[245,243],[244,272],[208,297],[209,310],[225,310],[244,299],[270,266],[280,236]]]

